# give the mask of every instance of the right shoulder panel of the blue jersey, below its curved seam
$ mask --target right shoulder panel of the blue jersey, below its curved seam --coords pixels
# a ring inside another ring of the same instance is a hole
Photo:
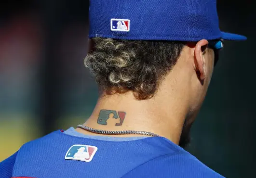
[[[150,160],[123,178],[224,178],[190,153],[167,154]]]

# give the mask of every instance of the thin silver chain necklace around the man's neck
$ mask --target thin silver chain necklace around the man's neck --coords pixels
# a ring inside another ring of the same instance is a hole
[[[78,125],[77,127],[82,128],[84,130],[97,133],[97,134],[108,134],[108,135],[124,135],[124,134],[138,134],[138,135],[147,135],[151,137],[160,137],[157,134],[145,131],[135,131],[135,130],[125,130],[125,131],[108,131],[108,130],[99,130],[91,127],[87,127],[84,125]]]

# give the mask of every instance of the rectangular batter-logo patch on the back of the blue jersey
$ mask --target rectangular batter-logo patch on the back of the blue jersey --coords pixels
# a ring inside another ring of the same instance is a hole
[[[65,159],[90,162],[98,150],[95,146],[90,145],[73,145],[66,153]]]

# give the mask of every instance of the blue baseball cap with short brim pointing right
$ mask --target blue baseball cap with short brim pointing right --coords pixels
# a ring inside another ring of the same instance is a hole
[[[216,0],[91,0],[89,38],[245,40],[222,32]]]

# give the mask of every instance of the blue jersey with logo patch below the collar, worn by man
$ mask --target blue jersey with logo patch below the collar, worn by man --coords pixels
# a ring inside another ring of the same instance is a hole
[[[223,178],[162,137],[98,140],[54,131],[0,163],[0,178]]]

